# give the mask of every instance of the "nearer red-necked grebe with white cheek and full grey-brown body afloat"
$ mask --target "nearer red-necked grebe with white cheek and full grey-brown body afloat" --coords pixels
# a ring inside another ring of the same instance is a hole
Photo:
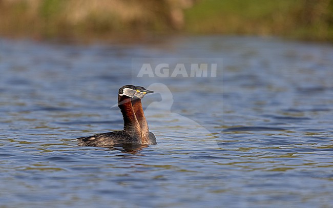
[[[141,92],[142,91],[142,92]],[[148,142],[146,138],[142,139],[141,127],[136,118],[135,112],[133,110],[131,99],[137,95],[138,98],[146,93],[152,93],[153,91],[146,90],[142,87],[135,87],[133,85],[126,85],[119,89],[118,93],[118,107],[123,116],[124,128],[122,131],[107,132],[96,134],[89,137],[77,138],[78,145],[81,146],[93,146],[93,147],[106,147],[115,144],[156,144],[153,142]],[[141,103],[141,101],[140,101]],[[141,105],[142,109],[142,105]],[[142,110],[143,114],[143,110]],[[142,115],[139,115],[140,120]],[[143,114],[144,117],[144,114]],[[145,117],[144,117],[145,120]],[[147,123],[147,121],[146,121]],[[147,124],[148,128],[148,124]],[[155,136],[154,136],[155,138]]]

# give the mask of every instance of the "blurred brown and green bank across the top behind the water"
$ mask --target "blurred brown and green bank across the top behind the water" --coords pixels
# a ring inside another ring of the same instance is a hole
[[[0,0],[0,35],[40,39],[169,34],[333,41],[333,0]]]

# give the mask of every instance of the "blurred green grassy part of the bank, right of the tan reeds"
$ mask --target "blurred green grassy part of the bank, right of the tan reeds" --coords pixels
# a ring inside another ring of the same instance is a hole
[[[190,33],[333,41],[332,0],[206,0],[185,11]]]

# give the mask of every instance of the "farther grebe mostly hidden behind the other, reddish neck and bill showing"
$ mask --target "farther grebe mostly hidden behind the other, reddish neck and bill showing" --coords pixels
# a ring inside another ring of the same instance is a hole
[[[146,90],[144,87],[141,86],[136,86],[135,91],[137,91],[137,93],[135,93],[134,97],[131,100],[136,119],[140,124],[142,143],[157,144],[155,135],[149,131],[148,123],[145,119],[141,102],[141,99],[144,97],[145,94],[153,93],[154,91]]]

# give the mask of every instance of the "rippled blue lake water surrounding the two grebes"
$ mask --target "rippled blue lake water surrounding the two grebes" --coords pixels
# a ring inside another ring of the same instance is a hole
[[[1,207],[333,204],[332,45],[204,36],[0,47]],[[217,64],[216,76],[137,76],[141,63],[187,59]],[[113,106],[127,84],[156,91],[142,101],[158,144],[78,147],[122,129]]]

